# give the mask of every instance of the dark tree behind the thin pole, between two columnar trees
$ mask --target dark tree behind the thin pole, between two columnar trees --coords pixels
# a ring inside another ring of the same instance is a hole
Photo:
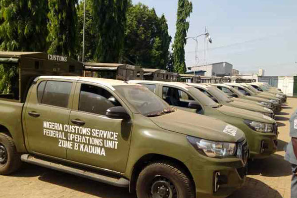
[[[93,31],[93,15],[92,15],[92,0],[86,0],[86,23],[85,23],[85,57],[84,61],[93,61],[95,51],[97,48],[96,45],[96,35]],[[83,54],[83,27],[84,27],[84,0],[80,1],[78,9],[78,40],[80,48],[78,50],[78,55],[82,57]]]

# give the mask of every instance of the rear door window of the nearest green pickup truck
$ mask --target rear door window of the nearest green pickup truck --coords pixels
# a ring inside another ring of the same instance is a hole
[[[71,93],[72,83],[70,82],[61,82],[61,81],[47,81],[44,88],[44,94],[42,92],[43,84],[40,84],[38,89],[38,97],[40,97],[40,103],[49,104],[52,106],[59,106],[67,108],[68,100]]]

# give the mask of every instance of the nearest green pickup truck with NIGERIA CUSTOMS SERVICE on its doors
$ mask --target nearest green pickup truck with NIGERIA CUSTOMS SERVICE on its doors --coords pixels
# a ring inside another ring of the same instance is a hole
[[[129,188],[138,198],[225,198],[243,186],[242,130],[172,108],[144,86],[78,77],[74,62],[62,66],[69,59],[13,54],[0,52],[0,66],[15,66],[15,89],[28,89],[0,94],[0,174],[23,161]],[[35,77],[57,68],[67,77]]]

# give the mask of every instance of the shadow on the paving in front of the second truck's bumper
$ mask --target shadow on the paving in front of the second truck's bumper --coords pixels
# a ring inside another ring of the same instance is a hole
[[[288,176],[291,175],[291,164],[284,160],[284,156],[278,154],[272,154],[265,159],[248,161],[247,175],[260,174],[266,177]]]

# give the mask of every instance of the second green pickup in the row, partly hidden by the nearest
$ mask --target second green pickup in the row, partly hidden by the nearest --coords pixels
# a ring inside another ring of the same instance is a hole
[[[277,150],[277,123],[271,117],[218,104],[185,83],[142,80],[132,80],[129,83],[146,86],[174,108],[214,117],[238,127],[246,134],[251,158],[268,157]]]

